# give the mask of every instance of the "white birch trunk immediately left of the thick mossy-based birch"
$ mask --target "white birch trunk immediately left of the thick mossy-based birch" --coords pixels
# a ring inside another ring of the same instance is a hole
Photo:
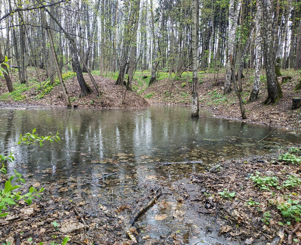
[[[260,68],[261,68],[261,19],[262,19],[262,3],[261,0],[258,1],[257,12],[256,12],[256,47],[255,47],[255,76],[254,76],[254,86],[251,92],[249,102],[254,102],[257,100],[259,93],[259,81],[260,81]]]

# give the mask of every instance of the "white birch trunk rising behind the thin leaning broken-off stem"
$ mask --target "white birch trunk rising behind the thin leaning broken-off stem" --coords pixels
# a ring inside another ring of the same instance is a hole
[[[228,26],[228,56],[234,55],[235,51],[235,34],[237,27],[237,20],[239,16],[239,10],[241,6],[241,0],[235,5],[235,0],[230,0],[229,4],[229,26]],[[224,94],[229,94],[231,92],[231,64],[227,61],[226,67],[226,77],[224,84]]]

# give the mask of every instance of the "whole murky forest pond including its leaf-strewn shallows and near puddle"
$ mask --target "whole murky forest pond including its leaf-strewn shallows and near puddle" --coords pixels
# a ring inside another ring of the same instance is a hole
[[[191,119],[190,107],[184,106],[0,112],[0,149],[14,145],[20,134],[33,128],[39,135],[58,131],[61,138],[43,147],[11,148],[16,161],[8,164],[9,173],[17,169],[30,185],[44,186],[44,196],[84,202],[84,213],[91,217],[106,206],[133,206],[161,185],[164,195],[139,218],[137,226],[143,236],[156,239],[178,231],[186,244],[228,242],[216,239],[214,231],[207,234],[205,226],[212,218],[200,216],[191,204],[176,201],[179,192],[189,192],[179,186],[185,187],[192,173],[203,173],[221,159],[265,154],[301,139],[300,133],[276,129],[269,135],[274,128],[215,118],[202,111],[199,119]],[[203,163],[158,165],[182,161]],[[110,173],[115,174],[98,179]]]

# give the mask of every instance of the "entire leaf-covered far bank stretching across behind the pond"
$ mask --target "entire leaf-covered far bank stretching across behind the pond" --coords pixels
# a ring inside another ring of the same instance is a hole
[[[40,69],[41,80],[46,80],[45,72]],[[198,72],[199,78],[199,104],[209,110],[216,117],[225,117],[241,121],[238,98],[232,91],[229,95],[224,95],[224,69],[220,70],[218,76],[211,72]],[[265,74],[260,78],[260,93],[258,100],[247,103],[250,92],[253,88],[254,71],[245,71],[243,84],[243,101],[246,109],[247,119],[244,122],[264,124],[277,128],[290,130],[301,130],[300,109],[291,110],[292,97],[301,96],[301,91],[294,91],[295,85],[300,80],[299,72],[294,70],[281,70],[283,76],[291,76],[281,84],[283,98],[276,105],[262,105],[267,96]],[[191,103],[191,72],[183,72],[182,76],[171,76],[167,72],[160,72],[157,81],[148,86],[150,80],[149,71],[136,71],[132,84],[133,91],[126,92],[125,103],[121,103],[121,88],[115,85],[118,73],[110,74],[107,77],[100,76],[99,71],[92,71],[96,83],[98,84],[101,96],[97,96],[95,89],[91,95],[78,98],[80,93],[75,73],[63,73],[63,78],[73,106],[90,108],[137,108],[147,107],[149,103],[190,105]],[[13,81],[17,81],[17,70],[12,69]],[[143,76],[147,78],[143,79]],[[5,81],[0,79],[0,102],[3,105],[38,105],[38,106],[65,106],[61,88],[56,78],[55,85],[46,82],[41,91],[36,72],[29,69],[29,87],[24,84],[14,83],[15,91],[7,93]],[[85,80],[93,89],[88,74],[84,74]],[[216,78],[217,77],[217,78]],[[282,76],[278,78],[281,82]],[[44,83],[44,82],[43,82]],[[42,84],[43,84],[42,83]]]

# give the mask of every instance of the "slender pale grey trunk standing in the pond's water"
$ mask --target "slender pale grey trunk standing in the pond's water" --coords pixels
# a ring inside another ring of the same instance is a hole
[[[191,98],[191,117],[199,117],[199,103],[198,103],[198,37],[197,28],[199,26],[197,19],[198,0],[192,1],[192,98]]]

